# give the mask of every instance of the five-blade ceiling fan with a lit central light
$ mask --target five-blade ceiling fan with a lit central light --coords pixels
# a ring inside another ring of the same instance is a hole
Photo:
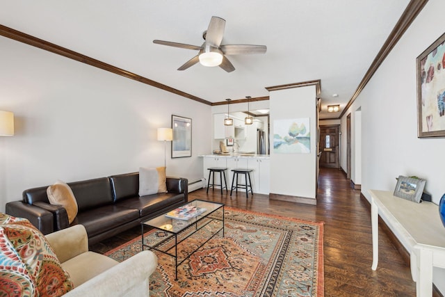
[[[195,49],[199,53],[188,60],[178,70],[186,70],[188,67],[200,62],[207,67],[220,66],[227,72],[235,70],[234,65],[230,63],[225,55],[242,55],[242,54],[264,54],[266,53],[266,45],[221,45],[223,41],[225,29],[225,19],[220,17],[211,17],[209,28],[204,31],[202,38],[204,43],[198,47],[197,45],[186,45],[184,43],[170,42],[164,40],[153,40],[158,45],[168,45],[170,47],[180,47],[182,49]]]

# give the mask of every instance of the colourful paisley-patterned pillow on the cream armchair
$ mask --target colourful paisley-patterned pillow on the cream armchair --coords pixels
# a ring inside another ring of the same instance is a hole
[[[44,235],[25,218],[0,213],[0,296],[62,296],[73,289]]]

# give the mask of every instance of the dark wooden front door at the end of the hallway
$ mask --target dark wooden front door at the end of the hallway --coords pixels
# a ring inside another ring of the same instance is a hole
[[[340,168],[340,125],[320,126],[320,167]]]

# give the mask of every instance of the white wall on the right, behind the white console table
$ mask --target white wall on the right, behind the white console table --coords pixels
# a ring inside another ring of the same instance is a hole
[[[445,192],[445,139],[417,138],[416,110],[416,57],[445,32],[439,21],[444,11],[445,1],[428,1],[341,119],[343,140],[346,115],[352,113],[354,127],[353,111],[362,107],[362,193],[368,200],[369,189],[394,191],[398,175],[426,179],[436,203]],[[341,163],[346,168],[346,160]],[[444,271],[435,270],[434,282],[444,294]]]

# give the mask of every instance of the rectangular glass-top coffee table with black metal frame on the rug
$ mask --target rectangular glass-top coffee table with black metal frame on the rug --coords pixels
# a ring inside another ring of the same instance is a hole
[[[178,279],[178,266],[186,261],[193,252],[200,249],[220,232],[223,232],[224,237],[224,204],[193,200],[181,205],[177,210],[176,212],[165,212],[140,223],[142,250],[148,248],[174,257],[175,280]],[[193,217],[188,218],[188,214]],[[144,234],[151,229],[158,231]],[[179,255],[178,250],[180,251]]]

